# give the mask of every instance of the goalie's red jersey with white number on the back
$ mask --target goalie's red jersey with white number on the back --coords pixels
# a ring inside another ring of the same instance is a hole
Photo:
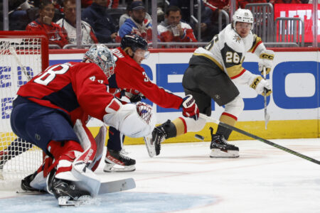
[[[102,120],[105,107],[114,98],[107,92],[107,83],[95,63],[68,62],[48,67],[23,85],[18,95],[65,111],[73,123],[76,119],[87,121],[88,115]]]

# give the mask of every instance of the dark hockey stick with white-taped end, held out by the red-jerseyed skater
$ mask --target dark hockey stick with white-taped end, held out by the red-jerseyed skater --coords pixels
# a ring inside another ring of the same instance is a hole
[[[258,140],[258,141],[261,141],[261,142],[263,142],[263,143],[267,143],[267,144],[270,145],[270,146],[274,146],[275,148],[279,148],[279,149],[281,149],[282,151],[285,151],[285,152],[290,153],[290,154],[292,154],[292,155],[297,155],[297,156],[300,157],[300,158],[304,158],[304,160],[309,160],[309,161],[311,161],[311,162],[313,162],[313,163],[320,164],[320,161],[319,161],[319,160],[315,160],[314,158],[310,158],[310,157],[308,157],[308,156],[306,156],[306,155],[302,155],[301,153],[297,153],[296,151],[293,151],[293,150],[291,150],[291,149],[289,149],[289,148],[285,148],[284,146],[280,146],[280,145],[278,145],[277,143],[273,143],[273,142],[268,141],[268,140],[266,140],[266,139],[264,139],[264,138],[260,138],[260,137],[258,137],[258,136],[252,135],[252,133],[248,133],[247,131],[243,131],[243,130],[241,130],[241,129],[238,129],[238,128],[236,128],[235,126],[230,126],[230,125],[228,125],[228,124],[225,124],[225,123],[223,123],[223,122],[220,122],[220,121],[218,121],[218,120],[216,120],[216,119],[213,119],[212,117],[206,116],[205,114],[200,114],[200,117],[201,117],[201,119],[206,119],[206,121],[211,121],[211,122],[213,122],[213,123],[215,123],[215,124],[218,124],[218,125],[220,125],[220,126],[223,126],[223,127],[227,128],[227,129],[231,129],[231,130],[233,130],[233,131],[237,131],[238,133],[242,133],[242,134],[245,135],[245,136],[248,136],[248,137],[250,137],[250,138],[254,138],[254,139],[256,139],[256,140]]]

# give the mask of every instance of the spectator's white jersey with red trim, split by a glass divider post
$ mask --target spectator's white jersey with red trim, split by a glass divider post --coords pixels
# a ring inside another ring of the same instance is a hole
[[[68,33],[69,43],[77,44],[77,28],[73,27],[65,18],[57,21],[61,28],[65,28]],[[82,44],[98,43],[95,33],[89,23],[81,21]]]

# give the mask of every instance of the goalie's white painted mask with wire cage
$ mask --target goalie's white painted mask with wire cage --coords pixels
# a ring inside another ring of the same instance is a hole
[[[114,73],[115,61],[114,55],[107,46],[102,44],[94,44],[85,53],[83,57],[83,62],[89,60],[90,62],[98,65],[107,78],[109,78]]]

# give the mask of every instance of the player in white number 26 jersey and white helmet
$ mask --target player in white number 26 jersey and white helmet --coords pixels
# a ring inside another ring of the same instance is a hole
[[[196,99],[199,111],[210,116],[211,99],[219,106],[225,106],[220,121],[235,126],[244,102],[235,84],[245,84],[255,89],[257,94],[272,92],[270,84],[260,75],[254,75],[242,67],[245,53],[255,53],[259,58],[259,70],[266,68],[267,74],[272,68],[274,52],[267,50],[260,37],[252,33],[253,16],[250,10],[238,9],[233,21],[223,31],[215,35],[204,48],[197,48],[189,61],[189,67],[183,75],[183,88],[186,94]],[[204,119],[194,121],[178,118],[156,126],[152,135],[144,138],[154,151],[149,155],[159,155],[161,142],[166,138],[179,136],[187,131],[201,131],[205,126]],[[237,158],[239,148],[227,143],[232,130],[218,126],[215,134],[211,129],[211,158]]]

